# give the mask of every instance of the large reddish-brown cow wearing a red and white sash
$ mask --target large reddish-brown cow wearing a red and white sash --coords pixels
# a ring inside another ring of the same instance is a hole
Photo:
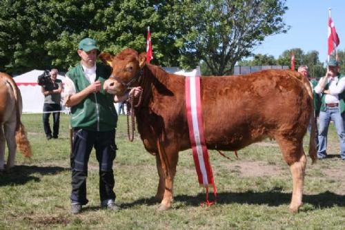
[[[156,198],[161,200],[158,210],[169,209],[178,153],[190,148],[185,77],[146,64],[145,53],[138,55],[132,49],[115,57],[108,54],[100,57],[112,65],[112,76],[103,85],[108,93],[123,95],[130,84],[143,88],[141,106],[135,109],[138,131],[146,150],[156,155],[159,174]],[[313,119],[312,97],[308,80],[291,70],[201,77],[208,149],[237,151],[265,137],[274,138],[293,176],[290,202],[293,212],[302,205],[306,169],[302,140],[309,120]],[[312,128],[309,155],[314,162],[315,125]]]

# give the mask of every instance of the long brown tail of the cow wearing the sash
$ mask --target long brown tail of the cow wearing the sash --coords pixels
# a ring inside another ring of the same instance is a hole
[[[309,98],[311,99],[311,116],[309,122],[311,123],[311,135],[309,140],[309,156],[311,157],[312,164],[317,160],[317,149],[316,149],[316,120],[315,120],[315,111],[314,111],[314,97],[313,97],[313,88],[311,88],[311,83],[309,80],[300,75],[295,75],[300,81],[302,81],[304,87],[308,91]]]

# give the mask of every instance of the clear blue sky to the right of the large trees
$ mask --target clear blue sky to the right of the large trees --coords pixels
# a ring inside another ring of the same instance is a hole
[[[305,53],[319,52],[319,61],[327,59],[328,8],[340,39],[338,50],[345,50],[345,0],[287,0],[284,22],[291,26],[285,34],[266,37],[255,54],[273,55],[276,59],[285,50],[301,48]]]

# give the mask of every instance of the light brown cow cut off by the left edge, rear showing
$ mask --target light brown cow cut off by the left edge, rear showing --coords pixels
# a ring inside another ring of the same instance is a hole
[[[31,148],[21,124],[21,93],[10,75],[0,73],[0,171],[4,168],[5,144],[8,146],[6,170],[14,166],[17,144],[21,153],[31,157]]]

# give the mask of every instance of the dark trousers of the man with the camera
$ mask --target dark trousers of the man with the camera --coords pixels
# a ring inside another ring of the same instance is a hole
[[[61,106],[59,104],[43,104],[43,112],[50,112],[50,111],[61,111]],[[57,137],[59,135],[59,126],[60,126],[60,112],[52,113],[53,123],[52,123],[52,130],[50,129],[49,124],[49,117],[50,113],[43,113],[43,128],[44,133],[46,136],[53,136]]]

